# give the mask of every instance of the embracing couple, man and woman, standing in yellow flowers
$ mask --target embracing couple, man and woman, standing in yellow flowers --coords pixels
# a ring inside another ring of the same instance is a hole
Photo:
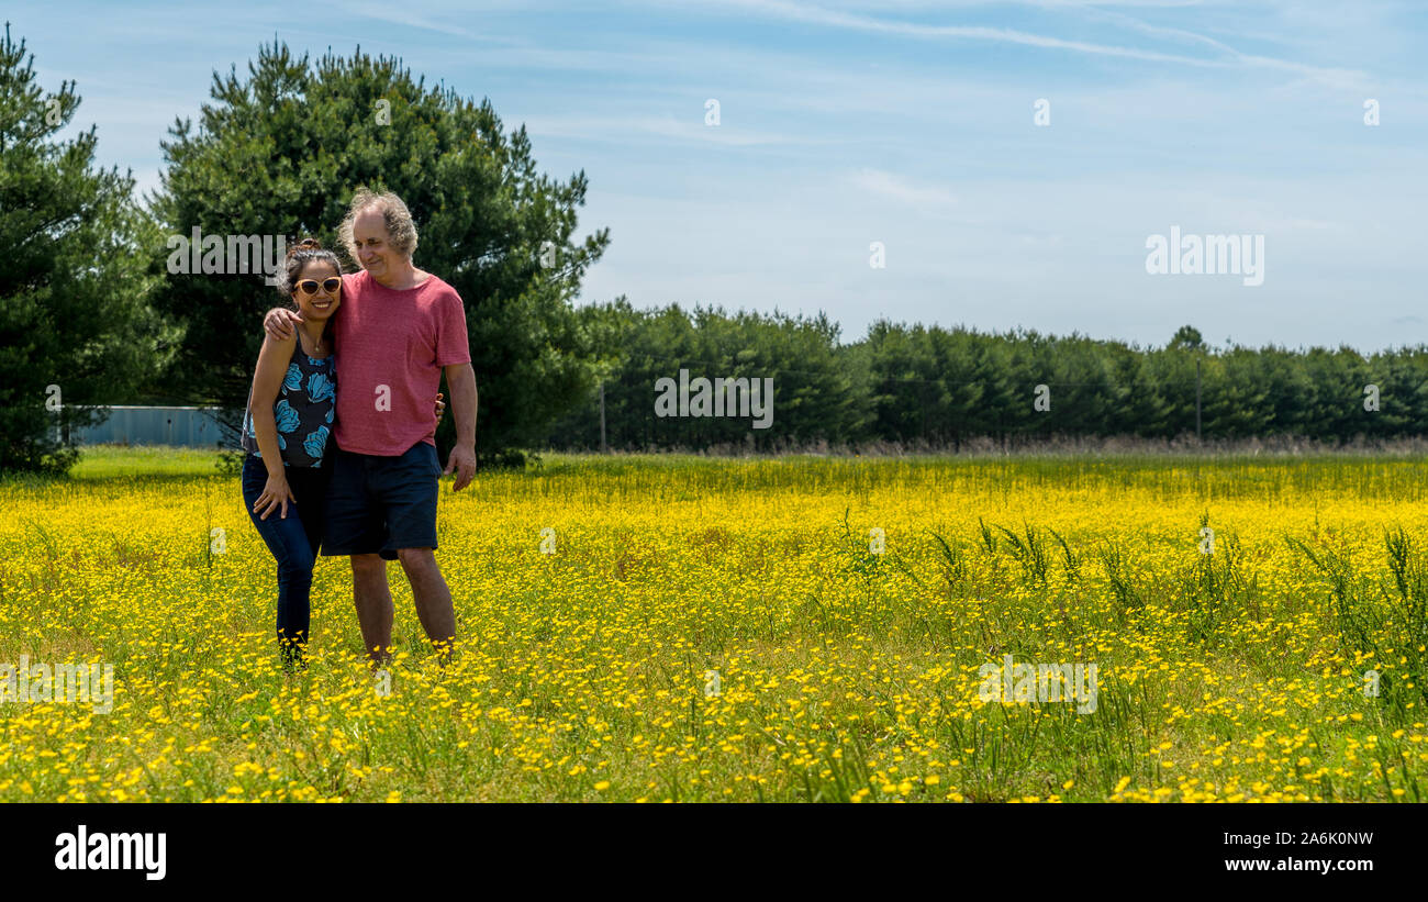
[[[461,491],[476,474],[466,308],[451,285],[413,264],[417,230],[396,194],[358,188],[340,237],[361,273],[343,275],[337,257],[311,238],[280,273],[297,310],[274,308],[263,321],[243,421],[243,500],[277,558],[287,667],[303,662],[318,547],[351,558],[363,645],[376,667],[390,658],[393,559],[444,662],[456,612],[434,554],[438,480],[456,471],[451,491]],[[446,470],[436,450],[443,374],[457,432]]]

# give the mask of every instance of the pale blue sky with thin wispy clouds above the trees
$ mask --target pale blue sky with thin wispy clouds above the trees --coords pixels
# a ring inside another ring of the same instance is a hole
[[[577,303],[821,311],[844,341],[881,318],[1141,347],[1184,324],[1220,347],[1428,340],[1422,3],[11,0],[3,19],[44,88],[77,83],[71,130],[96,126],[99,163],[140,191],[213,73],[274,39],[488,97],[541,171],[588,178],[574,240],[611,243]],[[1172,228],[1177,270],[1190,235],[1240,235],[1262,241],[1258,277],[1148,271]]]

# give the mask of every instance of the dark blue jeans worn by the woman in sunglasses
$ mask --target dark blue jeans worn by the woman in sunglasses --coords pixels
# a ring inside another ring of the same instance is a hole
[[[248,518],[277,559],[277,638],[284,664],[301,662],[307,645],[311,618],[313,565],[323,541],[330,467],[284,467],[287,485],[294,502],[287,505],[284,518],[274,508],[267,520],[253,511],[263,487],[267,467],[263,458],[248,454],[243,461],[243,502]]]

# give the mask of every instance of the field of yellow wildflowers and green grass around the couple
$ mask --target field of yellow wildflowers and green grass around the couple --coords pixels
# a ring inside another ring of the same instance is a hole
[[[1424,801],[1417,460],[446,478],[456,662],[391,564],[383,694],[346,559],[287,676],[237,478],[126,454],[0,484],[0,665],[114,672],[109,712],[0,705],[0,801]],[[988,678],[1008,655],[1094,664],[1094,702]]]

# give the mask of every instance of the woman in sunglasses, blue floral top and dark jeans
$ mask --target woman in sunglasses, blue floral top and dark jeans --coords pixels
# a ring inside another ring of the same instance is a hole
[[[324,458],[337,398],[327,324],[341,307],[341,264],[316,240],[288,251],[278,290],[296,301],[303,324],[291,338],[264,333],[243,417],[241,442],[248,452],[243,501],[277,558],[277,638],[287,669],[303,665],[313,567],[323,537],[331,472]],[[437,420],[444,407],[438,394]]]

